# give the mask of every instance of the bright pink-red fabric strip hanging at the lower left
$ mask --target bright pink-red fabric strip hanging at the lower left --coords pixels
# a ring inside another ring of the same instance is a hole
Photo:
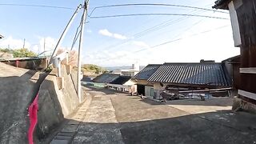
[[[28,131],[28,140],[29,140],[29,144],[34,144],[33,133],[34,133],[34,128],[38,122],[38,94],[34,98],[34,102],[30,104],[29,115],[30,115],[30,129]]]

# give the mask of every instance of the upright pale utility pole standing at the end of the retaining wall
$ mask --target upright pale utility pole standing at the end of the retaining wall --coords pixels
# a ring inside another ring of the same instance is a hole
[[[83,40],[83,31],[84,31],[84,25],[86,22],[86,17],[87,17],[87,10],[88,10],[88,4],[89,4],[89,0],[85,0],[85,4],[83,6],[84,10],[83,10],[83,14],[82,14],[82,25],[81,25],[81,34],[80,34],[80,38],[79,38],[79,47],[78,47],[78,98],[79,98],[79,102],[82,102],[82,91],[81,91],[81,50],[82,50],[82,40]]]

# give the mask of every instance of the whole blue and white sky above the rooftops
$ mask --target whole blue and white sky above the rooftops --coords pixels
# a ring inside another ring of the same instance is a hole
[[[13,49],[22,47],[23,38],[26,38],[26,47],[40,53],[43,50],[43,39],[46,39],[47,50],[54,48],[74,10],[1,5],[6,3],[65,6],[75,9],[79,3],[83,2],[75,0],[2,0],[0,2],[0,34],[5,36],[0,41],[0,46],[9,46]],[[166,3],[207,9],[211,9],[214,5],[213,0],[142,0],[139,2],[138,0],[126,2],[91,0],[89,13],[95,6],[124,3]],[[146,13],[201,14],[230,18],[229,14],[170,6],[104,8],[95,10],[92,16]],[[74,19],[74,24],[66,35],[62,43],[63,48],[70,48],[81,14],[82,10]],[[82,50],[83,63],[94,63],[100,66],[129,66],[134,62],[140,65],[199,62],[202,58],[221,62],[223,59],[239,54],[239,49],[234,47],[230,20],[186,16],[134,16],[88,18],[87,21],[89,23],[86,23]],[[162,26],[158,26],[161,23]],[[158,28],[148,33],[141,33],[153,26]],[[154,47],[164,42],[170,43]]]

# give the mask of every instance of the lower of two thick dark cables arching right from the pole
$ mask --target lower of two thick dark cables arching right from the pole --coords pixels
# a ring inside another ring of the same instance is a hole
[[[214,17],[209,15],[198,15],[198,14],[168,14],[168,13],[150,13],[150,14],[117,14],[117,15],[103,15],[103,16],[94,16],[90,18],[118,18],[118,17],[131,17],[131,16],[188,16],[188,17],[202,17],[202,18],[216,18],[216,19],[225,19],[222,17]]]

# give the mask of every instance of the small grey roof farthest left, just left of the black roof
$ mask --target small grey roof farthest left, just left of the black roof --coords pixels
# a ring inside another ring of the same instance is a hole
[[[116,78],[118,78],[120,75],[119,74],[101,74],[98,75],[96,78],[93,79],[93,82],[98,82],[98,83],[110,83],[114,81]]]

